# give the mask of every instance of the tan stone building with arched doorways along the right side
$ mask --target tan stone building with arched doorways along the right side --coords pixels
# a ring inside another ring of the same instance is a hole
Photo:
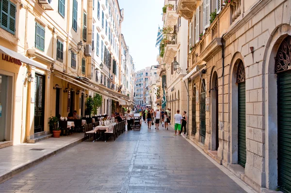
[[[257,192],[291,191],[290,4],[178,0],[189,31],[189,138]]]

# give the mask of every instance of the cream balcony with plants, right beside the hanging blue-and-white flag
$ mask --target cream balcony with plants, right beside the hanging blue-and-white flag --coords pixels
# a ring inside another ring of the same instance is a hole
[[[163,52],[163,64],[171,64],[177,53],[177,33],[168,33],[162,40],[161,52]]]

